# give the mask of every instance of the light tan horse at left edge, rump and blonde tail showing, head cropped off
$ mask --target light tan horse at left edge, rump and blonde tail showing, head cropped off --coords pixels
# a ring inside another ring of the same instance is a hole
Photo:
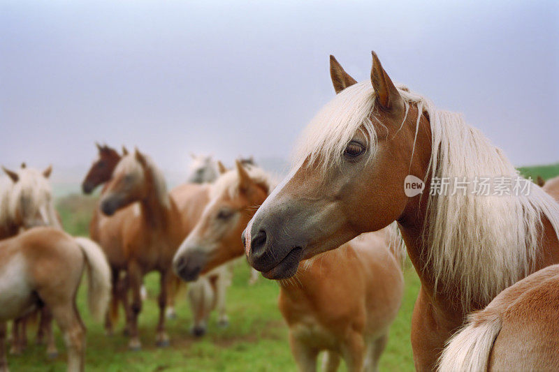
[[[109,267],[101,248],[54,228],[34,228],[0,241],[0,371],[6,361],[6,321],[44,305],[57,321],[66,348],[68,371],[83,371],[85,327],[75,296],[87,270],[89,310],[101,317],[110,295]]]

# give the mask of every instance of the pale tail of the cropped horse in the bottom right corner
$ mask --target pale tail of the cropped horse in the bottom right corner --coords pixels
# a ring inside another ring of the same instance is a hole
[[[500,314],[486,309],[468,316],[439,359],[438,371],[487,371],[489,354],[501,330]]]

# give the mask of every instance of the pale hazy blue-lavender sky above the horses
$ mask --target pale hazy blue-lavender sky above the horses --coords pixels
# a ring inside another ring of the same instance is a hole
[[[0,0],[0,163],[85,175],[94,142],[166,171],[189,154],[289,158],[375,50],[515,165],[559,161],[557,1]]]

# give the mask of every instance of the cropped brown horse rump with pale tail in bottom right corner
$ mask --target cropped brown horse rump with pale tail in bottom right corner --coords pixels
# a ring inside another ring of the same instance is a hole
[[[541,269],[470,314],[440,371],[559,371],[559,265]]]

